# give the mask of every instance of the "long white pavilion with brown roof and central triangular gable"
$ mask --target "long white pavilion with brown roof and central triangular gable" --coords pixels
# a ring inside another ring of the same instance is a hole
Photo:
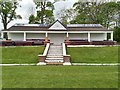
[[[108,40],[107,35],[110,34],[110,40],[113,41],[113,31],[108,30],[100,24],[68,24],[64,25],[56,20],[51,25],[41,24],[16,24],[7,30],[1,31],[7,33],[8,39],[12,41],[27,41],[28,39],[46,39],[54,44],[61,44],[65,40],[88,40],[104,41]]]

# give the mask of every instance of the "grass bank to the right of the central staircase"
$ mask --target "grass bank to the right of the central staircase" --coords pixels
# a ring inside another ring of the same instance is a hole
[[[117,63],[119,47],[73,47],[67,48],[71,62]]]

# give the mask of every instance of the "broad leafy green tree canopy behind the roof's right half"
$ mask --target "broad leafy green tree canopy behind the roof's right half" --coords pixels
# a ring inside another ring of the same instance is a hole
[[[75,23],[99,23],[109,28],[117,13],[116,2],[77,2],[73,5],[77,16],[71,22]]]

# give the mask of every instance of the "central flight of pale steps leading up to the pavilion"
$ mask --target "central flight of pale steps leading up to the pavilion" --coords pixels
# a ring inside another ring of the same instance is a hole
[[[47,65],[62,65],[64,62],[62,45],[50,45],[45,62]]]

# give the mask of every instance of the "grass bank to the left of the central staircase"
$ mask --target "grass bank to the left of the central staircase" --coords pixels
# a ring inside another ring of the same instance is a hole
[[[2,47],[2,63],[37,63],[44,46]]]

